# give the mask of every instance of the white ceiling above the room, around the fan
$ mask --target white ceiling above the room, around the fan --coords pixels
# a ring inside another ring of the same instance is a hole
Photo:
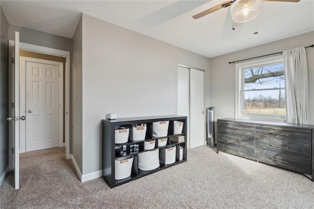
[[[201,19],[193,15],[225,0],[1,0],[10,24],[72,38],[80,14],[215,57],[314,31],[314,0],[264,1],[256,23],[235,24],[229,8]]]

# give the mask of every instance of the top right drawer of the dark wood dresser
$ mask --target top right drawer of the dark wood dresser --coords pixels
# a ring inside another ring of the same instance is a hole
[[[311,144],[312,131],[309,129],[257,125],[256,139],[280,139]]]

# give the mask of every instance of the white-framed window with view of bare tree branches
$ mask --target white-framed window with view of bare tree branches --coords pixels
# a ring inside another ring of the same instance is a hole
[[[284,121],[286,93],[283,56],[235,65],[235,117]]]

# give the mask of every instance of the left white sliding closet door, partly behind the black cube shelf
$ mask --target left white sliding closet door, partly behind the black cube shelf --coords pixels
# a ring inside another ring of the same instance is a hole
[[[186,138],[189,144],[190,119],[190,69],[178,66],[178,115],[187,116]],[[188,147],[187,147],[188,148]]]

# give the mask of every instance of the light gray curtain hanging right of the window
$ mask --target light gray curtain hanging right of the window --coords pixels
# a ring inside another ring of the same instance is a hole
[[[283,51],[287,122],[308,124],[308,67],[305,47]]]

